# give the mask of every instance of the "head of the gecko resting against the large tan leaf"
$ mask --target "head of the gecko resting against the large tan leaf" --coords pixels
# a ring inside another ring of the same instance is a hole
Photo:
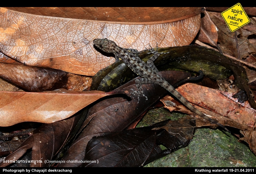
[[[94,39],[93,44],[105,52],[114,52],[113,50],[117,47],[114,41],[108,39]]]

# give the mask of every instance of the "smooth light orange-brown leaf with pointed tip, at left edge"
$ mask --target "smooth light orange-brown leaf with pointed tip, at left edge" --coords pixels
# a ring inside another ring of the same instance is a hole
[[[9,92],[0,91],[0,126],[20,122],[53,123],[76,112],[113,92],[68,91]]]

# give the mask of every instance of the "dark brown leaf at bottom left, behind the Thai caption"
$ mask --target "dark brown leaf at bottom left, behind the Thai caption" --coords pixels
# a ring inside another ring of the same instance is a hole
[[[86,113],[87,111],[84,110],[66,120],[40,126],[5,160],[12,160],[12,158],[19,160],[28,149],[32,148],[32,160],[36,162],[31,162],[30,167],[48,167],[51,163],[47,160],[51,161],[61,147],[73,138],[83,123]],[[39,162],[40,160],[42,162]],[[0,165],[4,167],[10,163],[12,162],[3,162]]]

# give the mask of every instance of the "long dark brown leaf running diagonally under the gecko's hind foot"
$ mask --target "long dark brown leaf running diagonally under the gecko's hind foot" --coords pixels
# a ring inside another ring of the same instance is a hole
[[[164,74],[162,73],[162,76],[167,80],[179,78],[175,73],[167,74],[164,72]],[[169,82],[173,84],[176,83],[177,80],[171,80]],[[162,87],[154,83],[143,84],[142,88],[147,89],[144,90],[144,94],[148,96],[148,100],[145,100],[145,97],[141,97],[139,104],[137,96],[134,96],[130,101],[127,100],[127,98],[115,97],[105,99],[92,106],[88,110],[87,119],[82,126],[82,128],[85,128],[70,146],[62,160],[83,160],[87,143],[92,137],[102,135],[104,132],[124,130],[154,104],[157,99],[160,99],[167,93],[166,90],[162,90]],[[124,84],[116,90],[131,91],[131,89],[136,90],[134,80]],[[79,165],[80,163],[77,162],[60,164],[62,167],[77,167]]]

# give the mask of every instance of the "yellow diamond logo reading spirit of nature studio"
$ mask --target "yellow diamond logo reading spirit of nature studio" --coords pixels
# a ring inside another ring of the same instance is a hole
[[[236,31],[238,28],[250,22],[247,14],[240,3],[221,13],[222,18],[225,20],[231,32]]]

